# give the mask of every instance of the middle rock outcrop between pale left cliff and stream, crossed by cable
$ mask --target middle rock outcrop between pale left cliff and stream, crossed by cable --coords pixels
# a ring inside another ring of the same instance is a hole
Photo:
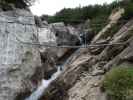
[[[58,48],[57,45],[76,45],[79,42],[79,31],[64,23],[44,24],[40,28],[39,41],[41,44],[55,46],[54,48],[41,47],[41,57],[44,67],[44,79],[48,79],[56,72],[55,65],[62,65],[65,60],[76,50],[69,48]],[[73,42],[72,42],[73,41]]]

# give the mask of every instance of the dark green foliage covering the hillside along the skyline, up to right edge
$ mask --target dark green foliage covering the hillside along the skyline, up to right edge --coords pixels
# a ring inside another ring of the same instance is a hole
[[[86,7],[64,8],[54,16],[41,16],[42,20],[48,23],[64,22],[65,24],[80,24],[90,19],[90,28],[94,34],[97,34],[108,23],[108,17],[116,8],[125,8],[125,14],[120,21],[128,20],[133,17],[133,0],[114,1],[111,4],[89,5]],[[118,23],[108,32],[112,36],[125,23]],[[107,36],[104,36],[105,38]]]

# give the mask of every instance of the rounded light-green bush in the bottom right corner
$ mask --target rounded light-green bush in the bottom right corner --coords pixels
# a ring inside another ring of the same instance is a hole
[[[105,75],[103,88],[108,100],[133,100],[133,68],[113,68]]]

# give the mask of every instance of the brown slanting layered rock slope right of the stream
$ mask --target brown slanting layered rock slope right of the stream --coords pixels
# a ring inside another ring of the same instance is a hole
[[[117,23],[113,21],[118,21],[123,12],[124,10],[120,9],[111,15],[112,21],[108,25]],[[78,49],[66,61],[64,71],[48,87],[40,100],[108,100],[106,93],[101,91],[104,74],[113,66],[125,62],[133,63],[133,19],[124,24],[118,32],[113,33],[110,39],[106,37],[103,40],[102,35],[110,29],[108,25],[104,27],[104,31],[94,37],[91,43],[122,42],[123,44]]]

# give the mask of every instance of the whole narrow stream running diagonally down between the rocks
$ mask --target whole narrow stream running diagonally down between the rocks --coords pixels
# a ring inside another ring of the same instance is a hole
[[[38,100],[42,95],[44,94],[45,90],[48,88],[48,86],[53,82],[55,79],[57,79],[60,74],[65,70],[65,67],[67,64],[71,63],[71,60],[74,55],[77,55],[80,51],[80,48],[77,49],[61,66],[57,66],[57,72],[52,75],[52,77],[49,80],[42,80],[41,85],[37,88],[36,91],[34,91],[29,97],[27,97],[25,100]]]

